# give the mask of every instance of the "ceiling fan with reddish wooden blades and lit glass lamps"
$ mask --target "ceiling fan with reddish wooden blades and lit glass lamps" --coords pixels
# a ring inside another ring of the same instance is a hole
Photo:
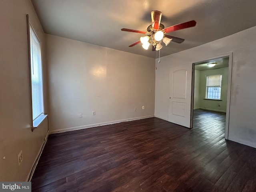
[[[148,26],[147,31],[122,28],[121,29],[122,31],[146,34],[146,36],[141,37],[139,41],[131,44],[129,47],[135,46],[140,42],[142,42],[142,47],[146,50],[150,45],[152,45],[153,51],[160,50],[162,48],[161,41],[163,41],[166,46],[170,43],[170,41],[173,41],[176,43],[182,43],[184,41],[184,39],[182,38],[170,36],[170,35],[167,35],[166,33],[196,26],[196,21],[191,20],[185,23],[164,28],[164,25],[160,23],[161,18],[162,18],[162,12],[155,10],[151,12],[152,24]]]

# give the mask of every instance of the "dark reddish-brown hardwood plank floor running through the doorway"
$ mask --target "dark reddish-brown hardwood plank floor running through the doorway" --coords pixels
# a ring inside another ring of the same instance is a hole
[[[196,110],[192,129],[148,118],[52,134],[32,191],[255,191],[256,149],[225,140],[224,125]]]

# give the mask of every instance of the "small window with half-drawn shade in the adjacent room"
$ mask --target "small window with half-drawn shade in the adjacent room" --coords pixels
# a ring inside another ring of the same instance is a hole
[[[206,99],[220,99],[222,75],[206,76]]]

